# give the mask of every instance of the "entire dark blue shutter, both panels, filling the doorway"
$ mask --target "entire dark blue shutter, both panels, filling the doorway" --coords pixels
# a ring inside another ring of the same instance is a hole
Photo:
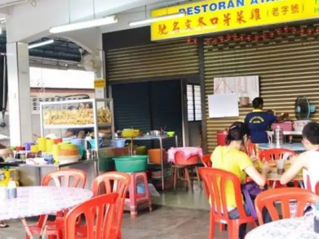
[[[175,131],[182,139],[180,80],[112,85],[116,129],[137,128],[143,132]],[[160,147],[159,141],[136,141],[137,145]],[[152,144],[153,143],[153,144]],[[163,140],[163,147],[175,146],[175,139]]]

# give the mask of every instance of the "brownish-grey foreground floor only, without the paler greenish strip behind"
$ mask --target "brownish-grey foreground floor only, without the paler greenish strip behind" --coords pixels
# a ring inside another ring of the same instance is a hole
[[[209,213],[204,210],[161,207],[152,213],[140,213],[137,219],[125,214],[123,239],[208,239]],[[9,222],[0,230],[0,239],[23,239],[20,222]],[[216,228],[215,239],[227,239],[227,233]]]

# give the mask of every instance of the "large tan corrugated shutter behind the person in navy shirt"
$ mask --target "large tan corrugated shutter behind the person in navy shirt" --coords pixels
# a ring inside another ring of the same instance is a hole
[[[295,119],[295,99],[307,96],[319,107],[319,43],[318,38],[272,42],[258,46],[212,50],[205,46],[205,94],[214,93],[213,78],[218,76],[259,75],[260,95],[265,109],[288,112]],[[251,111],[240,108],[240,119]],[[216,146],[216,131],[224,129],[237,118],[209,119],[206,98],[208,151]],[[312,115],[319,120],[319,112]]]

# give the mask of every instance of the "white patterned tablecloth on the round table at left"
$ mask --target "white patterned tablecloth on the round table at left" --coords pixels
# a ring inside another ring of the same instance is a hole
[[[92,191],[82,188],[18,187],[17,198],[0,201],[0,221],[54,214],[92,196]]]

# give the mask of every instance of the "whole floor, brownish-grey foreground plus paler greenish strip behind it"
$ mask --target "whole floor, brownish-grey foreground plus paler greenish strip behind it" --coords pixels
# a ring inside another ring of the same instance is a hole
[[[178,193],[165,192],[152,199],[154,211],[139,212],[137,219],[125,213],[123,239],[207,239],[209,211],[205,192],[195,187],[195,193],[180,188]],[[23,239],[24,229],[19,221],[0,230],[0,239]],[[226,232],[216,228],[215,239],[227,239]]]

